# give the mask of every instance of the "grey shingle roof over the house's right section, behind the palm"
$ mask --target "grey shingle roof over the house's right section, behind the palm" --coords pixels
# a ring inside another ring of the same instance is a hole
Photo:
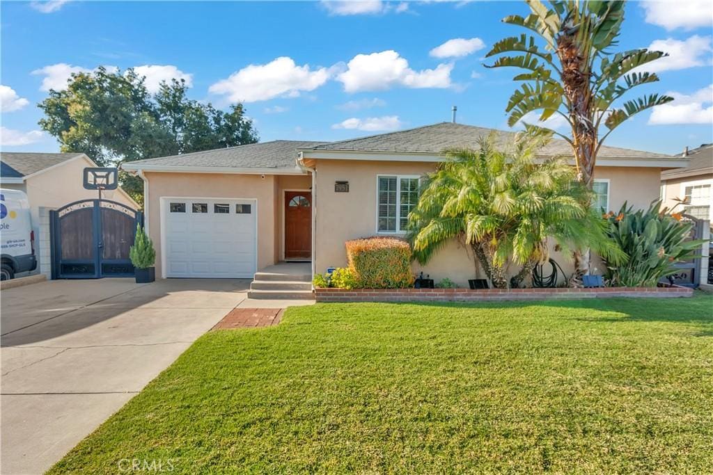
[[[412,152],[412,153],[440,153],[451,147],[476,148],[478,139],[494,133],[498,145],[508,145],[516,132],[486,129],[473,125],[441,122],[410,130],[399,130],[388,134],[371,135],[340,142],[329,142],[314,147],[314,150],[344,150],[356,152]],[[570,155],[570,145],[558,139],[550,142],[541,150],[543,155]],[[674,158],[654,152],[642,152],[618,147],[602,145],[599,157],[612,158]]]

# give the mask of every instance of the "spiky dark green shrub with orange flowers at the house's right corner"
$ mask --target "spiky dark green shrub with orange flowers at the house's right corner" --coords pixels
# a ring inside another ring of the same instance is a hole
[[[620,265],[607,263],[612,286],[655,287],[660,278],[677,271],[674,263],[691,259],[704,242],[687,240],[693,225],[668,211],[661,209],[660,201],[637,212],[625,203],[617,214],[603,216],[609,224],[607,235],[629,258]]]

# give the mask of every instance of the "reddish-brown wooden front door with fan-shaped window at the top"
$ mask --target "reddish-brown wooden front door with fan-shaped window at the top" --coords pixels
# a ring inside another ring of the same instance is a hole
[[[312,192],[284,192],[284,259],[312,258]]]

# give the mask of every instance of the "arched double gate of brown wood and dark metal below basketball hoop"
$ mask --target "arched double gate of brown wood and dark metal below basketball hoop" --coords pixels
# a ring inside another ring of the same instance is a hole
[[[131,277],[129,259],[143,213],[107,199],[50,212],[52,278]]]

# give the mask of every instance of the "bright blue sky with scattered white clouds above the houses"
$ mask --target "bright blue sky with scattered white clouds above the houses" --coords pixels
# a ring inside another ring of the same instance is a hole
[[[607,145],[677,153],[713,142],[713,2],[627,4],[624,50],[670,51],[637,93],[677,101],[622,125]],[[245,101],[261,140],[339,140],[450,120],[507,129],[514,69],[488,70],[519,1],[3,1],[2,150],[58,151],[36,103],[70,71],[139,67],[180,76],[190,97]],[[457,41],[451,41],[457,40]],[[438,48],[441,46],[441,48]],[[630,98],[637,97],[632,95]],[[556,125],[556,124],[555,124]]]

